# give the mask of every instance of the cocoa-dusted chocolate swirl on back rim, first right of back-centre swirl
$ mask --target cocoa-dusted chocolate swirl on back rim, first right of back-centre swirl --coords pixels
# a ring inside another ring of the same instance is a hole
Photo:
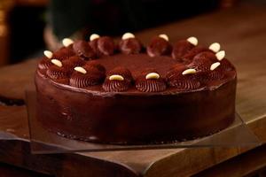
[[[171,52],[171,45],[164,37],[153,37],[152,41],[147,47],[147,54],[150,57],[168,55]]]

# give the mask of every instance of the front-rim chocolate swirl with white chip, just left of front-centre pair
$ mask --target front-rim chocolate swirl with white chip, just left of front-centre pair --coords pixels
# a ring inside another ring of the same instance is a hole
[[[101,73],[97,67],[93,65],[84,65],[83,67],[74,67],[74,73],[72,73],[69,81],[69,85],[75,88],[86,88],[101,84],[106,75]]]

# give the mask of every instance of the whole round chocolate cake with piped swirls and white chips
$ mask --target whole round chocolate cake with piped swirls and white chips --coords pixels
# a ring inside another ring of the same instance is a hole
[[[133,34],[120,42],[90,35],[44,51],[35,73],[37,118],[78,140],[145,144],[214,134],[234,120],[237,73],[215,42],[196,37],[144,46]]]

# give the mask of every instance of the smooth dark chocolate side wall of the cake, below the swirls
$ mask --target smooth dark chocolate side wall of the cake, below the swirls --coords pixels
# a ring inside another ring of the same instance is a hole
[[[173,142],[214,134],[234,120],[236,79],[200,92],[107,97],[62,89],[38,75],[35,82],[43,127],[74,139]]]

